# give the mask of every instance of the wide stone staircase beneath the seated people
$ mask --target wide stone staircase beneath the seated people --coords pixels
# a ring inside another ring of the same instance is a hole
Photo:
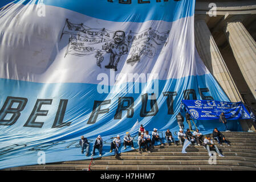
[[[94,159],[91,170],[256,170],[256,133],[223,132],[231,146],[218,146],[225,155],[217,155],[217,164],[209,164],[208,152],[202,146],[155,146],[152,152],[124,152],[120,159],[105,156]],[[217,143],[215,143],[217,144]],[[5,170],[87,170],[91,160],[76,160],[46,165],[23,166]]]

